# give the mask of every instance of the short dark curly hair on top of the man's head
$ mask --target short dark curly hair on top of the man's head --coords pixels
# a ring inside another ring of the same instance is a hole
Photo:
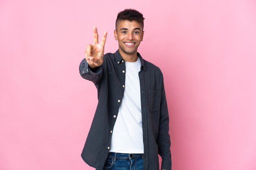
[[[142,13],[135,9],[125,9],[124,11],[121,11],[117,14],[117,20],[116,20],[116,30],[117,30],[117,24],[120,21],[128,20],[128,21],[137,21],[142,26],[142,30],[144,27],[144,17]]]

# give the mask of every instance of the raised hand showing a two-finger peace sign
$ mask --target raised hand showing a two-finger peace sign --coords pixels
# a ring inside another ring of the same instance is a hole
[[[88,44],[85,50],[85,59],[90,68],[96,68],[102,65],[104,46],[107,39],[107,31],[104,31],[101,43],[98,44],[98,31],[96,26],[93,27],[93,44]]]

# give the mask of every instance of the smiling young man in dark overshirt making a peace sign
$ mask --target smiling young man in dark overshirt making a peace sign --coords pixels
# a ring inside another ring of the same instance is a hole
[[[133,9],[117,15],[119,49],[104,55],[107,32],[87,46],[79,71],[98,91],[98,105],[81,154],[88,165],[111,170],[171,170],[169,116],[162,72],[137,52],[144,17]]]

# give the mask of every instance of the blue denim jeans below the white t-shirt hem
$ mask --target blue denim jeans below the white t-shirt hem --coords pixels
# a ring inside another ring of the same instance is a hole
[[[103,170],[143,170],[143,154],[108,153]],[[99,170],[99,169],[96,169]]]

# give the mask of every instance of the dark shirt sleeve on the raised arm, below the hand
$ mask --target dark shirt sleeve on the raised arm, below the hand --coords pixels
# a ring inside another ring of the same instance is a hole
[[[89,64],[86,62],[85,59],[83,59],[79,65],[79,72],[80,75],[89,81],[92,81],[95,85],[97,85],[102,78],[102,65],[95,68],[95,69],[90,69]]]

